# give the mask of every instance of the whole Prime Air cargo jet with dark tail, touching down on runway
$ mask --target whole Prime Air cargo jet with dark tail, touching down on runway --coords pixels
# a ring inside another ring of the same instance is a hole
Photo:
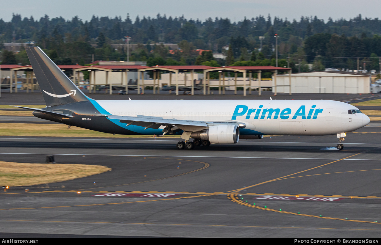
[[[109,134],[178,134],[178,149],[234,144],[263,135],[337,135],[370,119],[333,100],[93,100],[38,47],[26,47],[46,107],[33,115]],[[191,141],[190,138],[194,140]]]

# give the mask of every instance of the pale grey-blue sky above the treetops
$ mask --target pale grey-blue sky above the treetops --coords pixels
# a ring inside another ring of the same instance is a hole
[[[16,3],[16,4],[14,4]],[[22,18],[33,16],[40,19],[47,14],[50,18],[62,16],[71,19],[74,16],[83,21],[91,16],[121,16],[127,13],[134,21],[136,15],[155,17],[157,13],[169,16],[182,16],[186,19],[208,17],[229,18],[232,22],[271,15],[288,20],[300,20],[300,16],[317,16],[327,22],[331,17],[349,19],[361,14],[363,18],[379,18],[379,0],[0,0],[0,19],[11,21],[12,13],[21,14]]]

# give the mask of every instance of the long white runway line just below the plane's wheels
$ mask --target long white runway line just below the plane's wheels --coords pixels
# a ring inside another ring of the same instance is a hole
[[[119,154],[61,154],[61,153],[0,153],[11,155],[61,155],[61,156],[139,156],[139,157],[207,157],[207,158],[250,158],[250,159],[291,159],[291,160],[340,160],[341,158],[297,158],[297,157],[243,157],[243,156],[169,156],[169,155],[119,155]],[[381,161],[381,159],[343,159],[352,161]]]

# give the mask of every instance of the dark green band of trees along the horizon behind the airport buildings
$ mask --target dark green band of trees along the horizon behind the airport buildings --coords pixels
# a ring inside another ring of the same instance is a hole
[[[123,19],[121,16],[92,16],[89,21],[78,16],[66,20],[45,15],[35,20],[33,16],[22,18],[20,14],[13,14],[10,22],[0,19],[0,57],[3,64],[14,61],[10,60],[12,55],[4,51],[3,43],[33,40],[57,64],[89,64],[92,55],[95,60],[126,60],[127,50],[115,50],[111,44],[125,43],[125,36],[130,36],[130,43],[138,44],[138,48],[130,50],[130,61],[147,61],[154,65],[200,64],[196,49],[207,49],[228,56],[226,60],[215,59],[214,65],[262,64],[263,60],[271,63],[274,59],[274,35],[278,34],[278,54],[282,59],[279,66],[284,65],[283,60],[288,65],[289,60],[295,72],[299,67],[301,71],[308,70],[311,66],[307,64],[313,64],[313,69],[357,69],[358,58],[361,67],[365,63],[368,70],[379,70],[380,33],[381,20],[362,18],[360,14],[349,20],[329,18],[327,21],[317,16],[301,16],[299,20],[290,21],[259,15],[238,22],[228,18],[210,17],[205,21],[184,16],[172,18],[165,14],[154,18],[136,16],[135,19],[129,14]],[[259,36],[264,37],[260,51]],[[178,44],[181,50],[170,52],[162,43]],[[29,64],[25,51],[14,58],[18,64]],[[211,60],[203,62],[207,61]]]

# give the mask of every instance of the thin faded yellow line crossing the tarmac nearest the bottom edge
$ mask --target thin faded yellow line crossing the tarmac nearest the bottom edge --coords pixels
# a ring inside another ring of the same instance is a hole
[[[127,222],[96,222],[96,221],[56,221],[56,220],[0,220],[0,221],[24,221],[24,222],[52,222],[52,223],[90,223],[90,224],[143,224],[164,226],[220,226],[220,227],[248,227],[248,228],[285,228],[285,229],[327,229],[327,230],[351,230],[351,231],[381,231],[379,229],[350,229],[350,228],[317,228],[317,227],[290,227],[290,226],[235,226],[221,224],[171,224],[171,223],[127,223]]]

